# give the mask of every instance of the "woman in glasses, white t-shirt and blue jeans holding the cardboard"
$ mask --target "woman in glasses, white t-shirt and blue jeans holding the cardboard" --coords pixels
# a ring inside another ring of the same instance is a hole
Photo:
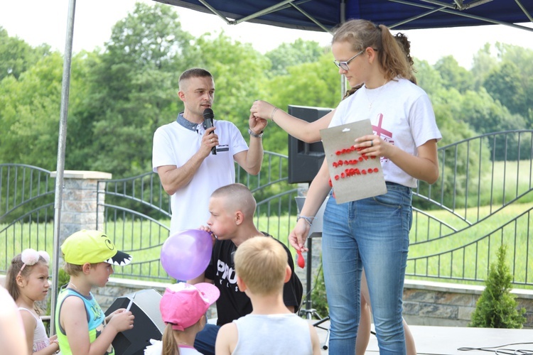
[[[411,188],[419,179],[437,180],[436,142],[441,133],[429,97],[408,80],[409,63],[386,26],[365,20],[345,22],[333,35],[332,51],[339,74],[351,87],[362,87],[340,102],[329,126],[370,119],[375,133],[357,138],[354,146],[361,154],[380,157],[387,193],[337,204],[324,161],[289,240],[306,251],[312,217],[330,194],[322,237],[330,352],[355,353],[364,267],[380,354],[405,354],[402,293]]]

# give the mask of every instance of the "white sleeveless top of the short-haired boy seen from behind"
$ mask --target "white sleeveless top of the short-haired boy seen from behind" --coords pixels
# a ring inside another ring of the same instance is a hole
[[[245,315],[233,322],[238,332],[233,355],[313,354],[309,324],[295,314]]]

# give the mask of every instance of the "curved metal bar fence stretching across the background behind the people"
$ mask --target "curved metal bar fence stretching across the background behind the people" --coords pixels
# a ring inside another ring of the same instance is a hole
[[[532,147],[533,131],[505,131],[438,148],[438,182],[419,182],[414,190],[408,277],[481,283],[496,261],[497,249],[506,244],[513,285],[533,285],[528,273],[533,270]],[[298,185],[287,182],[287,165],[286,155],[265,152],[259,175],[236,167],[237,181],[247,185],[258,202],[259,229],[284,241],[296,222],[298,195]],[[53,209],[50,202],[38,206],[41,198],[53,200],[48,173],[28,165],[0,165],[0,271],[28,246],[51,251]],[[158,175],[102,180],[98,185],[106,232],[120,249],[136,255],[115,275],[168,280],[159,253],[168,237],[170,202]]]

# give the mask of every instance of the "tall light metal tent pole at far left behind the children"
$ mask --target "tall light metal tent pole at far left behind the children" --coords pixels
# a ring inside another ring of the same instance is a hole
[[[58,137],[58,165],[55,177],[54,198],[54,238],[53,238],[53,275],[50,301],[50,334],[55,334],[55,302],[58,299],[59,243],[61,225],[61,205],[63,204],[63,173],[65,172],[65,145],[67,141],[68,95],[70,92],[70,65],[72,62],[72,37],[74,35],[74,14],[76,0],[68,4],[67,36],[65,39],[65,58],[63,59],[63,80],[61,82],[61,109]]]

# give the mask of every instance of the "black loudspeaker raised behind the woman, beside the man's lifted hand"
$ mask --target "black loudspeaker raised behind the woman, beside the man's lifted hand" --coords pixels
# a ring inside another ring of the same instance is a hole
[[[332,109],[289,105],[289,114],[313,122]],[[305,143],[289,135],[289,183],[311,182],[320,170],[325,153],[322,142]]]

